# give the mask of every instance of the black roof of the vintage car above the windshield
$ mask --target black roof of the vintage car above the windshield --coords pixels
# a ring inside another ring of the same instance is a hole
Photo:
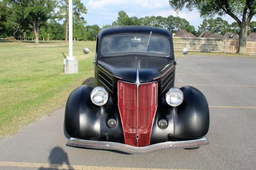
[[[136,33],[136,34],[160,34],[166,37],[172,37],[170,31],[160,27],[150,27],[150,26],[115,26],[102,29],[99,32],[98,38],[99,40],[102,37],[112,35],[112,34],[129,34],[129,33]]]

